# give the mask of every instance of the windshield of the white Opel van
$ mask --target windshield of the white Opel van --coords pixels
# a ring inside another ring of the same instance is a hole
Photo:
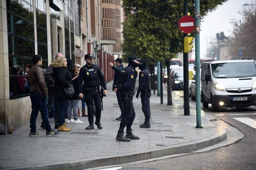
[[[230,62],[212,64],[214,78],[239,78],[255,77],[256,67],[254,62]]]

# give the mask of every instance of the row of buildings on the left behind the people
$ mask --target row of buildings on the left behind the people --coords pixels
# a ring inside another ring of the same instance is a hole
[[[121,54],[119,0],[0,0],[0,13],[0,134],[29,124],[26,65],[35,54],[45,70],[56,53],[80,65],[92,53],[106,81],[113,79],[108,62]]]

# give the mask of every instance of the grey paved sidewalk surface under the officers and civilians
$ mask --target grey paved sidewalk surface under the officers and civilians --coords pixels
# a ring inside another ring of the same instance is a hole
[[[140,128],[144,123],[144,114],[141,111],[140,99],[133,98],[136,117],[132,125],[133,133],[140,137],[131,142],[116,141],[116,134],[120,116],[116,94],[111,91],[112,82],[107,84],[108,95],[103,98],[104,111],[101,113],[100,130],[94,124],[93,130],[85,130],[89,125],[88,117],[79,117],[82,124],[68,123],[72,128],[70,132],[60,132],[58,136],[45,136],[45,130],[40,128],[41,120],[36,122],[39,136],[29,137],[29,124],[21,127],[13,134],[0,136],[0,168],[29,166],[45,163],[61,163],[88,158],[100,158],[103,156],[115,156],[118,154],[138,151],[150,151],[182,143],[189,143],[198,139],[212,137],[218,132],[202,112],[203,129],[196,129],[196,107],[190,107],[190,115],[184,116],[183,99],[176,93],[172,93],[173,105],[168,106],[166,89],[164,90],[164,103],[159,104],[160,98],[156,94],[150,97],[151,128]],[[136,84],[138,88],[138,83]],[[81,108],[81,103],[79,105]],[[86,108],[87,112],[87,108]],[[27,113],[30,114],[30,113]],[[40,116],[38,116],[40,117]],[[94,118],[95,120],[95,118]],[[49,119],[54,126],[54,119]],[[126,132],[126,130],[124,130]],[[35,161],[36,160],[36,161]]]

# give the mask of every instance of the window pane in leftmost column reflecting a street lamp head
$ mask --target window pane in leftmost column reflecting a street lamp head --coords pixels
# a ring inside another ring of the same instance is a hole
[[[22,19],[7,13],[7,29],[8,32],[22,36]]]

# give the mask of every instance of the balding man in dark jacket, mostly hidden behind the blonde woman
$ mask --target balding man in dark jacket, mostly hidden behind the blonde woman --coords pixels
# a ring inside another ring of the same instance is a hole
[[[55,60],[57,58],[63,57],[62,53],[57,53],[55,55]],[[47,103],[47,110],[48,110],[48,116],[51,114],[51,111],[53,109],[53,105],[55,106],[55,113],[54,113],[54,122],[55,126],[54,129],[58,129],[59,127],[59,101],[58,99],[54,99],[54,79],[53,79],[53,71],[52,71],[52,64],[45,70],[45,81],[47,85],[47,91],[48,91],[48,103]],[[44,124],[42,122],[41,128],[45,129]]]

